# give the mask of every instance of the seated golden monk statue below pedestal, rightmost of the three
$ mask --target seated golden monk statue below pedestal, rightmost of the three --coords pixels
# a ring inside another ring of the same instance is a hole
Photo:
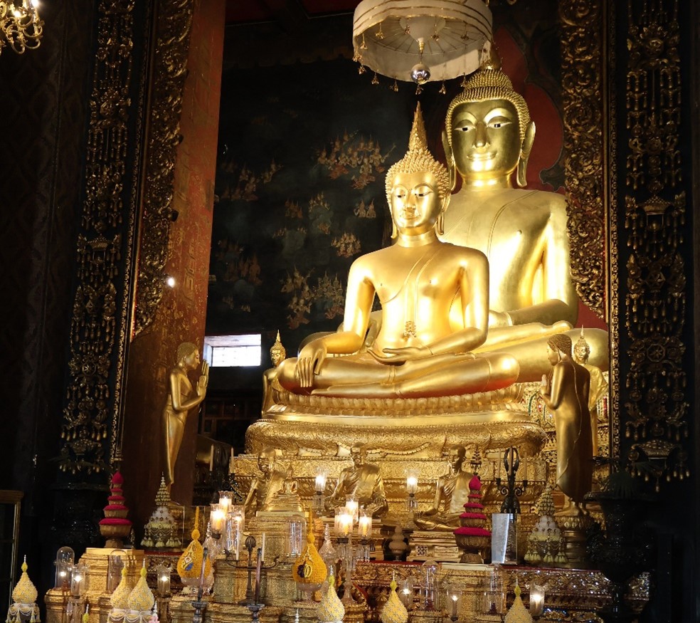
[[[417,513],[413,523],[422,530],[454,530],[460,525],[460,514],[469,501],[469,483],[473,473],[462,471],[467,450],[465,446],[450,446],[447,461],[450,468],[437,479],[433,506],[423,513]]]

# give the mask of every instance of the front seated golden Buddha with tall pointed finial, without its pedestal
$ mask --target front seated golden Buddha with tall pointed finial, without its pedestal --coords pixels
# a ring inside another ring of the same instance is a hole
[[[389,169],[393,246],[350,268],[343,330],[316,337],[279,368],[280,385],[332,397],[442,397],[489,392],[519,374],[507,352],[474,355],[488,330],[489,266],[481,251],[440,241],[450,199],[445,167],[430,155],[420,106],[406,155]],[[363,347],[375,295],[381,328]]]

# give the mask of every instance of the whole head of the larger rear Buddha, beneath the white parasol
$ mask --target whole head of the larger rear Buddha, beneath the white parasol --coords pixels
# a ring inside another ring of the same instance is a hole
[[[462,177],[489,179],[509,176],[517,167],[517,182],[523,187],[534,137],[525,99],[502,72],[493,46],[492,57],[447,108],[443,145],[450,173],[454,176],[456,168]]]

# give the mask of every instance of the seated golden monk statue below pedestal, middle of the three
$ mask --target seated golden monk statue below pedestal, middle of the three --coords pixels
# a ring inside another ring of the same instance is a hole
[[[379,466],[367,462],[364,444],[354,444],[350,457],[353,464],[341,471],[333,493],[326,498],[326,508],[343,506],[348,500],[354,500],[368,515],[383,517],[389,506]]]

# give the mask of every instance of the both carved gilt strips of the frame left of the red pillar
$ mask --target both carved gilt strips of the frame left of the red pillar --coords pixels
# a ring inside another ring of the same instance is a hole
[[[78,286],[61,427],[63,471],[90,474],[121,458],[134,261],[139,258],[139,303],[145,310],[137,310],[135,324],[143,328],[159,300],[168,244],[192,4],[193,0],[160,0],[137,6],[134,0],[102,0],[97,9]],[[143,12],[135,16],[137,9]],[[150,32],[153,14],[158,16],[156,45]],[[137,55],[139,46],[146,51]],[[153,67],[147,60],[149,51]],[[144,178],[142,189],[139,182]],[[147,208],[139,227],[146,233],[137,253],[139,193]]]

